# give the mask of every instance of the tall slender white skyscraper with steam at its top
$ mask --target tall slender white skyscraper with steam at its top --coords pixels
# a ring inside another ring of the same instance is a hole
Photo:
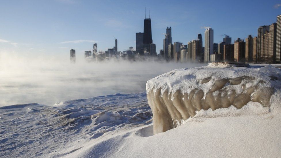
[[[209,62],[210,55],[213,54],[214,30],[207,28],[205,30],[205,62]]]

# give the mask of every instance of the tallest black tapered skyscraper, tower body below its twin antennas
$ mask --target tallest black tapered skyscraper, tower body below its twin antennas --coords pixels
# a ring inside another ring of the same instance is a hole
[[[150,52],[150,44],[153,43],[151,35],[151,20],[145,18],[143,26],[143,50]]]

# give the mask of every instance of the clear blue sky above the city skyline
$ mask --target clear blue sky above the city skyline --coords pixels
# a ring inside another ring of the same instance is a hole
[[[135,48],[135,33],[143,32],[144,8],[150,10],[152,39],[157,53],[163,49],[166,27],[172,27],[173,42],[187,44],[214,29],[214,42],[223,34],[244,39],[257,35],[257,28],[276,22],[281,1],[79,1],[2,0],[0,1],[0,52],[67,54],[76,49],[83,54],[114,46]]]

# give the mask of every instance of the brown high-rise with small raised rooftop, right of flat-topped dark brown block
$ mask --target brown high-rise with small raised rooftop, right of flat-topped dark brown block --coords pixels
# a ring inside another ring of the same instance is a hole
[[[245,62],[245,42],[240,38],[234,42],[234,61]]]

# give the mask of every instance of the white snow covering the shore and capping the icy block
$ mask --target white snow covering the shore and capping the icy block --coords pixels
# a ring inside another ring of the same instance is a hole
[[[147,90],[153,95],[163,89],[179,95],[178,90],[189,92],[186,85],[208,93],[222,78],[227,82],[221,89],[235,90],[237,95],[244,93],[242,85],[274,88],[269,105],[254,100],[239,108],[231,104],[196,110],[193,117],[180,120],[180,126],[155,135],[146,92],[67,100],[54,106],[3,106],[0,157],[280,157],[279,69],[176,69],[149,80]],[[155,87],[162,89],[154,91]],[[214,95],[219,95],[215,89]]]

